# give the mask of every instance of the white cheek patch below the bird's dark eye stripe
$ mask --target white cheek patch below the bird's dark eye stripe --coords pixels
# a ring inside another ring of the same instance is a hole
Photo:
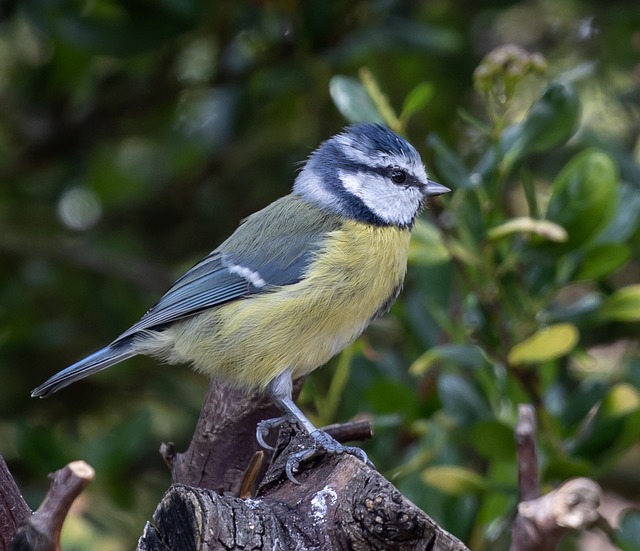
[[[339,177],[345,190],[389,224],[410,224],[420,210],[422,194],[414,187],[399,186],[384,176],[365,172],[340,171]]]

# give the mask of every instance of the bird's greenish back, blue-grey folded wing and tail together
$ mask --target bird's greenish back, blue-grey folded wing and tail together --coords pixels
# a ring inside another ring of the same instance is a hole
[[[247,218],[220,247],[178,279],[138,323],[102,350],[51,377],[32,395],[46,396],[137,354],[132,343],[141,331],[161,330],[207,308],[295,284],[305,277],[327,235],[340,225],[338,215],[294,194],[275,201]]]

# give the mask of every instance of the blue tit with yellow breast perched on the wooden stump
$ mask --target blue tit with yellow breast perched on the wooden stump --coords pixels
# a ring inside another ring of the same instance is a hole
[[[258,442],[268,448],[264,437],[285,422],[314,442],[287,462],[293,482],[300,463],[317,453],[368,462],[364,451],[316,429],[292,399],[293,381],[389,310],[404,281],[416,217],[427,198],[449,191],[389,128],[349,125],[308,156],[290,194],[243,220],[111,344],[31,395],[147,355],[266,393],[283,415],[258,424]]]

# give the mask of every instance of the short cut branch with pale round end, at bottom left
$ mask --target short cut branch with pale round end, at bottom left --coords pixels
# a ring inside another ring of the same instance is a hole
[[[60,531],[73,501],[94,479],[84,461],[73,461],[49,475],[51,488],[42,505],[18,528],[11,551],[59,551]]]

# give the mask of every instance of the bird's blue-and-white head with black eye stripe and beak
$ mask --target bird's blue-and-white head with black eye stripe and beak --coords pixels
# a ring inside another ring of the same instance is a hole
[[[323,142],[293,192],[343,216],[378,226],[410,227],[425,199],[450,191],[432,180],[420,155],[380,124],[348,126]]]

